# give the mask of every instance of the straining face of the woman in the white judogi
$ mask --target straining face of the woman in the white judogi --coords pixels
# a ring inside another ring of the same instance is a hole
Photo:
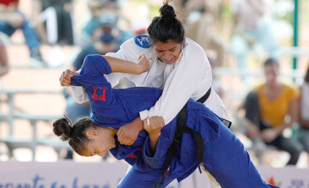
[[[168,40],[167,42],[157,41],[153,47],[156,55],[162,62],[172,64],[176,61],[178,54],[181,52],[183,42],[184,40],[181,43],[177,43],[174,40]]]

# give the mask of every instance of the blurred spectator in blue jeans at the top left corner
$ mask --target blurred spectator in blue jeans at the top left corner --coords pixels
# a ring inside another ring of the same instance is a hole
[[[30,65],[46,67],[39,52],[40,42],[24,15],[17,10],[18,0],[0,0],[0,31],[11,36],[16,29],[22,29],[30,50]]]

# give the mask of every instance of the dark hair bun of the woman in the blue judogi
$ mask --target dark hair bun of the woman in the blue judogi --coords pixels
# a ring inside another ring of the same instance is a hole
[[[62,141],[66,141],[70,138],[70,132],[72,127],[69,125],[69,121],[65,118],[60,118],[53,122],[53,132],[60,137]]]

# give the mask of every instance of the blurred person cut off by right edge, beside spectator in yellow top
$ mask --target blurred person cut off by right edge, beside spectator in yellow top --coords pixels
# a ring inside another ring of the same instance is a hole
[[[301,86],[300,96],[300,129],[297,131],[298,141],[309,153],[309,67],[305,75],[304,83]]]

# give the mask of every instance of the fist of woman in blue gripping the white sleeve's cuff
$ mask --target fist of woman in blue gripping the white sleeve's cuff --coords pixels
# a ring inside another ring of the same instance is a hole
[[[164,125],[165,123],[164,123],[163,117],[159,117],[159,116],[153,116],[151,118],[147,117],[143,121],[143,127],[148,132],[149,135],[156,135],[160,133]]]

